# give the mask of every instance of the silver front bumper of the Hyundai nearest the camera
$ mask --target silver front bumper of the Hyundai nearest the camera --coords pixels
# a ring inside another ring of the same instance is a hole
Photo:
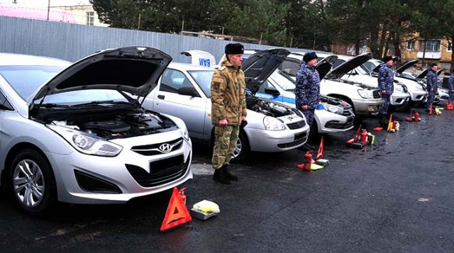
[[[131,150],[141,145],[170,142],[176,137],[182,136],[172,131],[117,139],[116,143],[123,146],[123,150],[116,157],[96,157],[76,151],[67,155],[46,153],[55,168],[58,200],[83,204],[125,203],[192,179],[190,140],[182,138],[182,145],[167,154],[145,155]],[[105,184],[93,186],[96,182]],[[106,185],[120,193],[106,190]]]

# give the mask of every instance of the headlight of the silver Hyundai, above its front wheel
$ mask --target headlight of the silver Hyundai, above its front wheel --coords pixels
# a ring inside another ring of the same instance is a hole
[[[54,130],[55,133],[69,142],[72,147],[84,154],[92,154],[100,157],[115,157],[123,149],[123,147],[113,142],[88,135],[72,128],[65,128],[59,125],[48,125],[48,128]]]

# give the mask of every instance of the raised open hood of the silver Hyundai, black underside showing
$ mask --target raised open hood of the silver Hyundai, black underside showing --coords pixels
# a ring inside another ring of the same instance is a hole
[[[82,89],[114,89],[146,96],[170,61],[170,55],[151,47],[120,47],[96,52],[43,84],[32,101]]]

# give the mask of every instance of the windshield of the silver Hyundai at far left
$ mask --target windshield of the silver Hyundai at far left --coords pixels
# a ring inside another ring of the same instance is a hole
[[[1,66],[0,75],[23,100],[28,101],[45,81],[55,77],[64,68],[62,66]]]

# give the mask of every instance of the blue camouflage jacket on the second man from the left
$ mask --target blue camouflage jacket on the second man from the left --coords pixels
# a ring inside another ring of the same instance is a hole
[[[297,73],[295,86],[295,104],[297,109],[307,105],[309,110],[314,110],[320,103],[320,76],[316,68],[301,62]]]

